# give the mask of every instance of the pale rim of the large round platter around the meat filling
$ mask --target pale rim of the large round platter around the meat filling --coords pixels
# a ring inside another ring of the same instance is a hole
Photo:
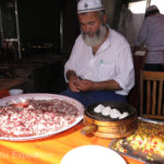
[[[83,105],[73,99],[70,98],[68,96],[62,96],[62,95],[58,95],[58,94],[20,94],[20,95],[14,95],[14,96],[8,96],[4,97],[2,99],[0,99],[0,105],[5,105],[9,101],[11,102],[22,102],[22,99],[26,99],[26,98],[34,98],[34,99],[54,99],[54,98],[58,98],[61,101],[66,101],[68,103],[70,103],[71,105],[73,105],[74,107],[77,107],[77,109],[79,110],[79,117],[77,118],[77,120],[70,125],[69,127],[65,127],[63,129],[59,130],[59,131],[55,131],[55,132],[50,132],[50,133],[46,133],[46,134],[40,134],[40,136],[32,136],[32,137],[13,137],[13,138],[7,138],[7,137],[0,137],[0,140],[10,140],[10,141],[27,141],[27,140],[36,140],[36,139],[43,139],[43,138],[47,138],[50,136],[54,136],[56,133],[62,132],[65,130],[68,130],[70,128],[72,128],[73,126],[75,126],[77,124],[79,124],[82,118],[83,118],[83,113],[84,113],[84,107]]]

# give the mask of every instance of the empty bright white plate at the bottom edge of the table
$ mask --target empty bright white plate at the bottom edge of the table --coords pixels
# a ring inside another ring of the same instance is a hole
[[[126,161],[108,148],[82,145],[69,151],[60,164],[126,164]]]

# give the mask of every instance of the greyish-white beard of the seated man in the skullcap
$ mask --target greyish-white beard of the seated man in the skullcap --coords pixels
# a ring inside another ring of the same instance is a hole
[[[81,34],[82,34],[82,38],[83,38],[84,43],[87,46],[96,47],[103,43],[106,32],[107,32],[106,25],[101,25],[99,30],[94,34],[93,37],[90,37],[84,32],[81,32]]]

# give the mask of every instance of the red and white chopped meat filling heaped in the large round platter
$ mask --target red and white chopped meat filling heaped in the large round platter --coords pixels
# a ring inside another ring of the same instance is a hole
[[[79,110],[61,99],[26,99],[0,106],[0,137],[30,137],[59,131],[72,125]]]

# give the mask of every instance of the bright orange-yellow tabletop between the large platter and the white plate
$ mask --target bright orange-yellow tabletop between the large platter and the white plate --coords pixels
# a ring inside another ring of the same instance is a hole
[[[110,140],[84,136],[82,127],[80,122],[61,133],[33,141],[0,140],[0,164],[60,164],[62,156],[77,147],[96,144],[108,148]],[[142,164],[124,157],[127,164]]]

